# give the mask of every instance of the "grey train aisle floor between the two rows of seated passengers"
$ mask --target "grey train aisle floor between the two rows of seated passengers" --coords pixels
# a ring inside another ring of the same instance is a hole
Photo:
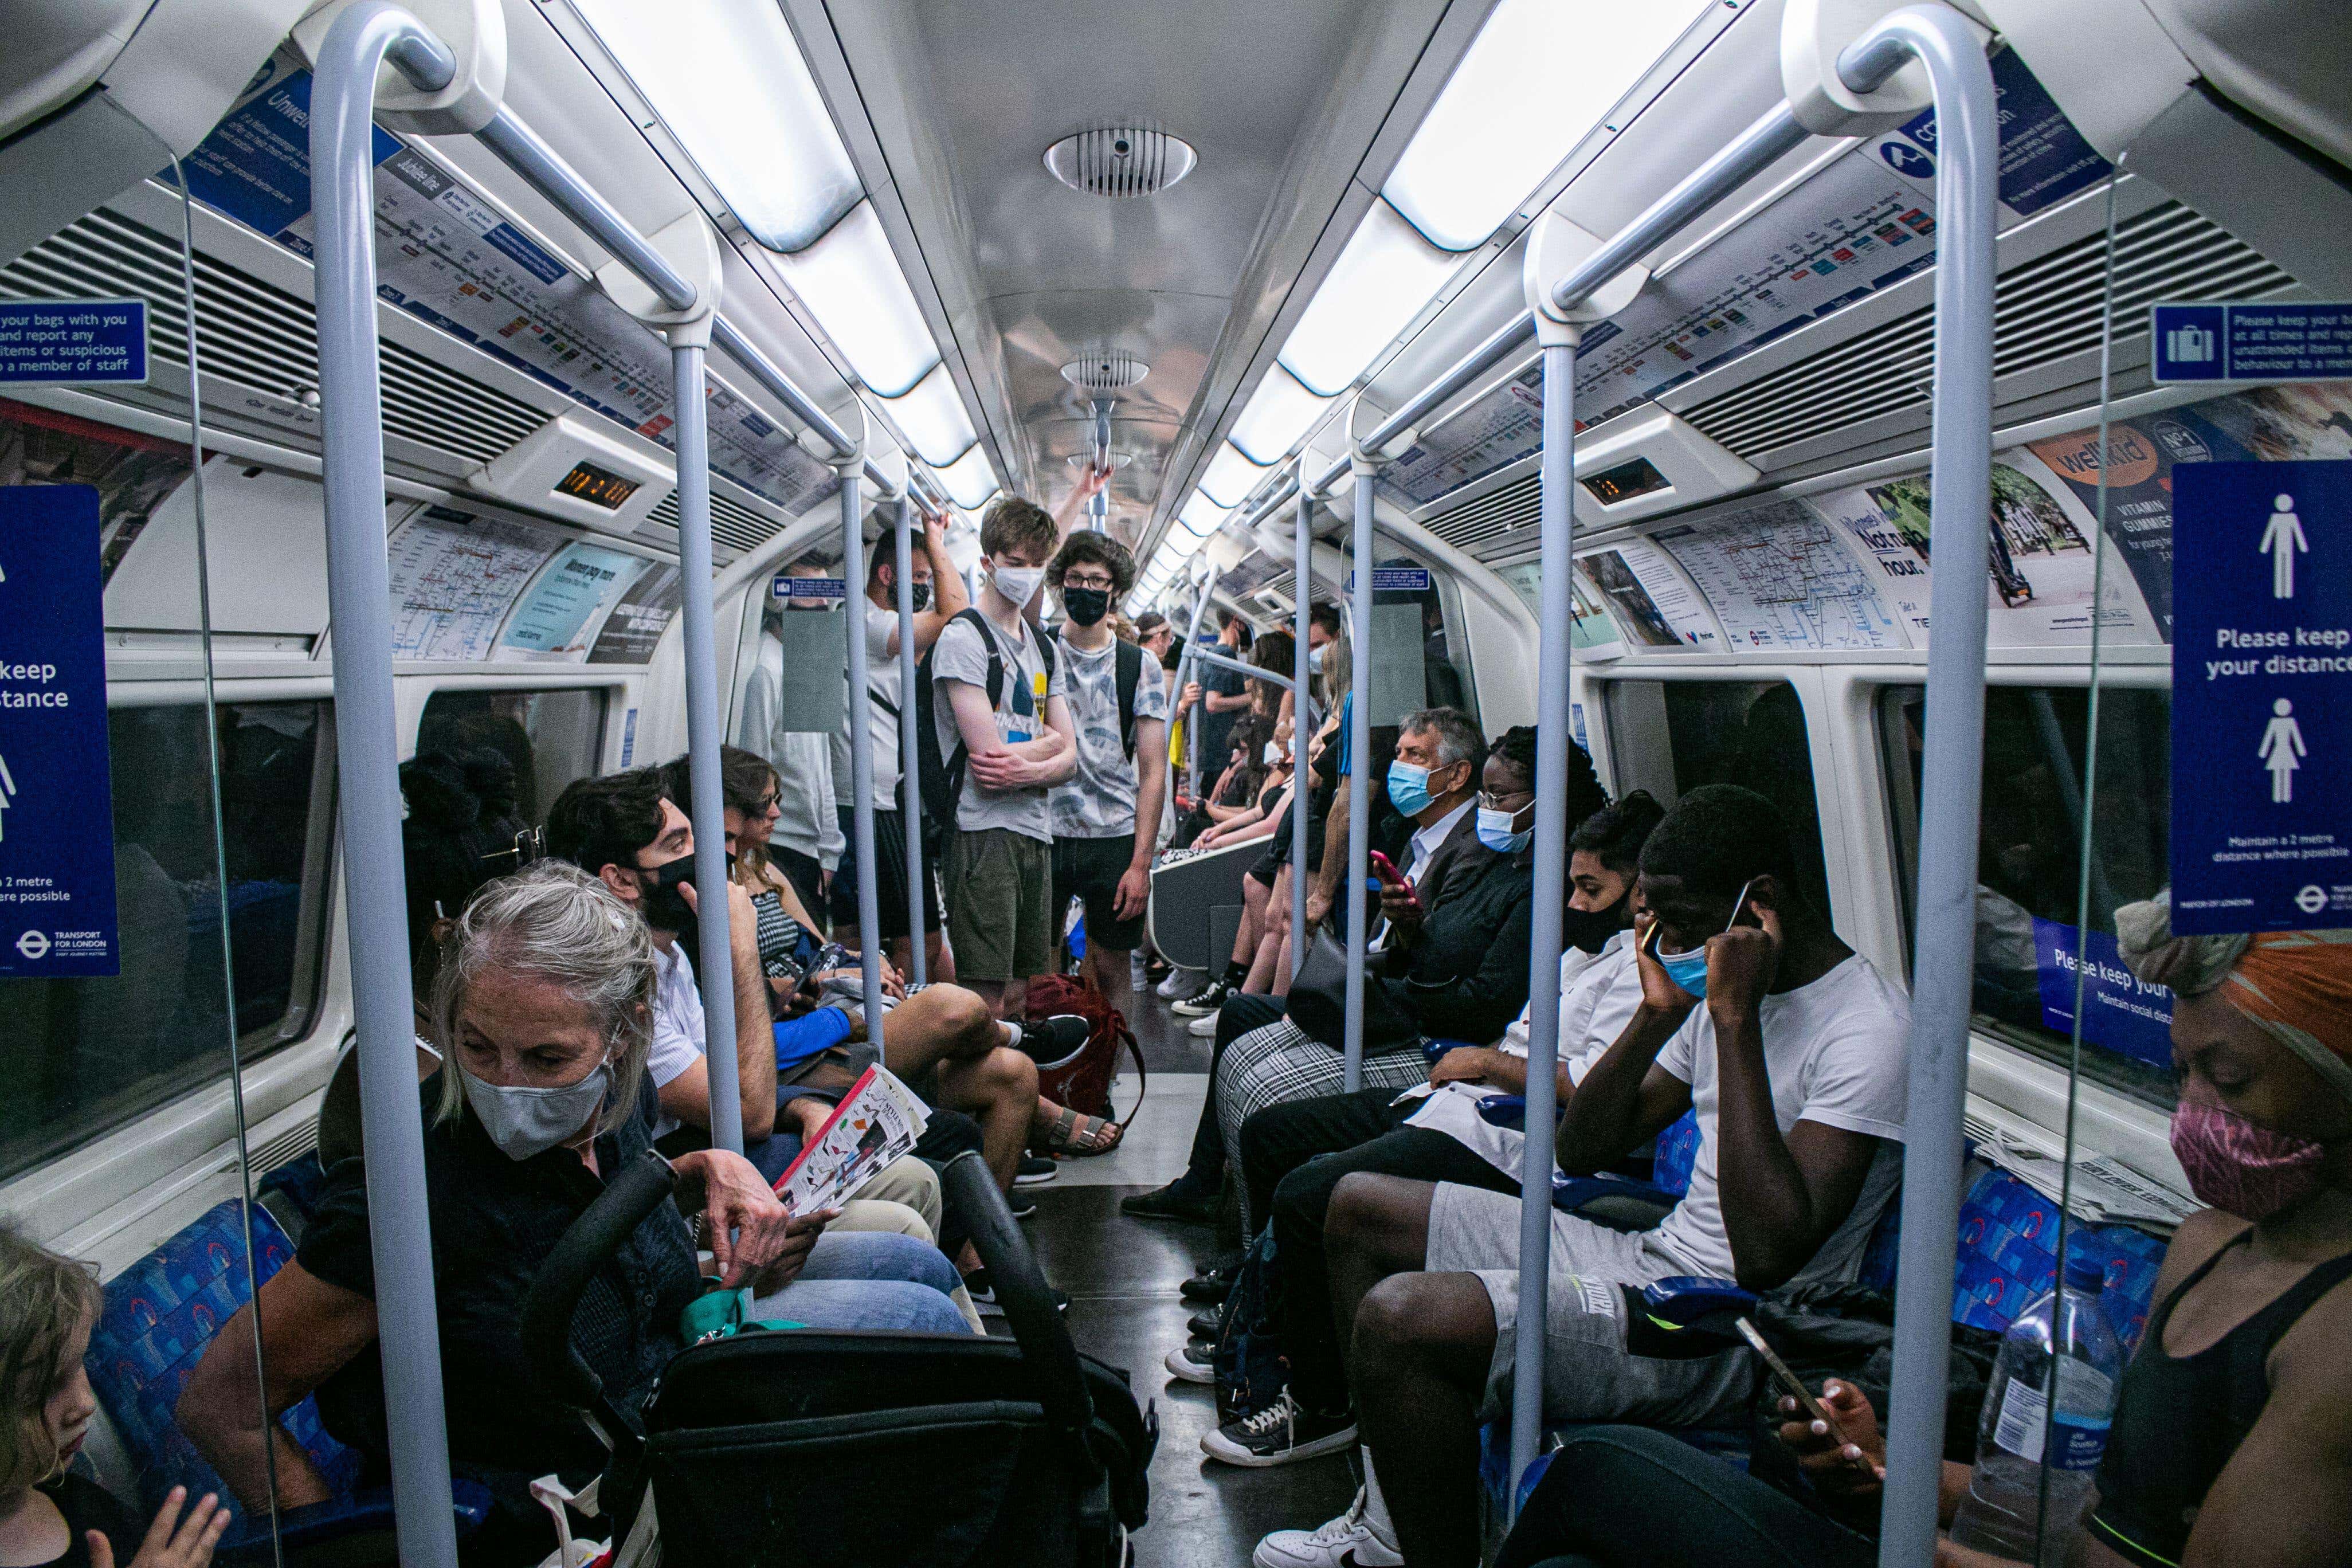
[[[1136,1399],[1160,1408],[1160,1450],[1152,1455],[1152,1519],[1136,1535],[1138,1568],[1242,1568],[1268,1530],[1312,1528],[1355,1493],[1345,1455],[1279,1469],[1216,1465],[1200,1450],[1216,1427],[1211,1389],[1176,1382],[1162,1356],[1183,1342],[1197,1312],[1176,1288],[1216,1251],[1207,1225],[1134,1220],[1120,1199],[1160,1187],[1183,1171],[1209,1084],[1209,1041],[1185,1032],[1169,1004],[1138,992],[1136,1041],[1148,1067],[1148,1091],[1127,1138],[1112,1154],[1065,1159],[1061,1175],[1040,1187],[1037,1218],[1028,1225],[1047,1279],[1070,1293],[1070,1335],[1077,1347],[1134,1378]],[[1120,1077],[1115,1105],[1134,1105],[1134,1072]]]

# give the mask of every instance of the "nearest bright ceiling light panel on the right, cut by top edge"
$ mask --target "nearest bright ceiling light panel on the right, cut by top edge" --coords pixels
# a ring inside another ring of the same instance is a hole
[[[1703,7],[1503,0],[1381,186],[1449,252],[1484,244]]]

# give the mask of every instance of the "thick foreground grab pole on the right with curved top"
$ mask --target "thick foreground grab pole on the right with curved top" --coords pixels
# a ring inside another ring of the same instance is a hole
[[[1893,1396],[1879,1563],[1936,1556],[1952,1253],[1976,954],[1976,820],[1985,741],[1985,517],[1992,510],[1992,280],[1999,155],[1992,68],[1943,5],[1882,19],[1839,56],[1849,87],[1907,59],[1936,92],[1936,468],[1929,515],[1926,755],[1919,762],[1919,917],[1912,954],[1910,1112],[1896,1274]]]

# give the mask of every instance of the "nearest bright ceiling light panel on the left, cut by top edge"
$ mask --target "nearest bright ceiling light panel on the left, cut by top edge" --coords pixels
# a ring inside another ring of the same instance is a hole
[[[797,252],[866,193],[776,0],[572,0],[753,237]]]

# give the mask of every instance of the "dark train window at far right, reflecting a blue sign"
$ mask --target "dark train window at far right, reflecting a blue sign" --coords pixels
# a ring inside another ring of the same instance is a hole
[[[1919,686],[1879,696],[1879,743],[1896,799],[1903,907],[1919,865]],[[2084,898],[2084,764],[2091,693],[2082,686],[1985,691],[1985,804],[1976,860],[1976,1023],[2060,1065],[2072,1058],[2077,959],[2084,992],[2082,1067],[2098,1081],[2171,1105],[2169,1009],[2136,987],[2114,950],[2114,907],[2164,886],[2171,853],[2171,693],[2098,693],[2100,788],[2091,816],[2091,933]],[[2129,780],[2129,785],[2124,783]]]

